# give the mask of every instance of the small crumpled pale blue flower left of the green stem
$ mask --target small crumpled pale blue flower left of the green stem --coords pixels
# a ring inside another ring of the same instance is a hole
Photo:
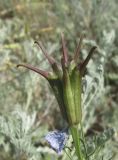
[[[50,146],[58,153],[60,154],[63,150],[67,139],[68,139],[68,133],[67,129],[63,131],[52,131],[49,132],[45,139],[50,144]]]

